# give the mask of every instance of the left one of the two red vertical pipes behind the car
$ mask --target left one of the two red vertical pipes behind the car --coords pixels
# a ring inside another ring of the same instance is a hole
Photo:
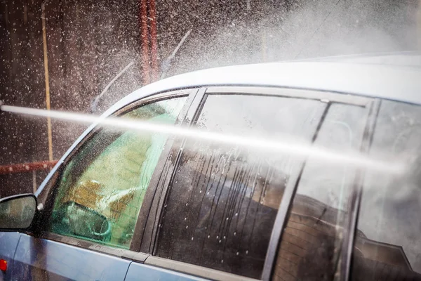
[[[140,37],[142,41],[143,84],[149,84],[149,36],[147,32],[147,0],[140,1]]]

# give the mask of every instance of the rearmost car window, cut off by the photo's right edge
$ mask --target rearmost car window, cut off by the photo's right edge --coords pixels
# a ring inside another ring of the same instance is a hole
[[[421,107],[382,101],[370,155],[405,161],[409,171],[366,176],[352,280],[421,280],[420,139]]]

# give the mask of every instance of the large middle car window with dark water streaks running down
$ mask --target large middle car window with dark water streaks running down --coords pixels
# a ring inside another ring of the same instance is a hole
[[[310,143],[325,108],[317,100],[215,94],[206,98],[196,127]],[[156,255],[260,277],[283,190],[300,161],[195,139],[182,151],[159,222]]]

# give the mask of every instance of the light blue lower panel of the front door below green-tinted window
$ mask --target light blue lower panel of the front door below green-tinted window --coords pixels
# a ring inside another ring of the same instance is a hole
[[[131,261],[22,234],[13,280],[124,280]]]

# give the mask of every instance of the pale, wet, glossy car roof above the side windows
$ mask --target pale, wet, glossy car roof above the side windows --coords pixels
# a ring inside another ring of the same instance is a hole
[[[200,86],[286,87],[421,104],[421,68],[340,61],[305,61],[215,67],[180,74],[134,91],[107,110],[105,115],[155,93]]]

